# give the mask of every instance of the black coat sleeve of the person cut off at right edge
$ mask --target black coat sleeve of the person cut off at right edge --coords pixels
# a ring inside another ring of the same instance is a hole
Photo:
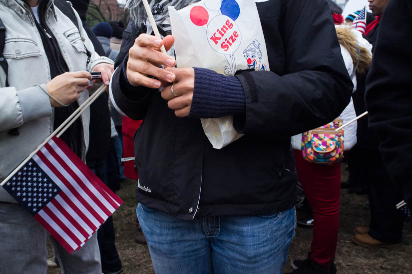
[[[369,126],[391,178],[412,177],[412,1],[390,1],[380,22],[367,78]]]

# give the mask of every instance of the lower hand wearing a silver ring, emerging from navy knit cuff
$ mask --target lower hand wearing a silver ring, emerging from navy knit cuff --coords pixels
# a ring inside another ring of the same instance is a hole
[[[176,75],[176,81],[172,84],[174,95],[172,85],[167,85],[161,92],[162,98],[168,100],[167,106],[174,110],[177,117],[187,117],[192,105],[195,70],[193,67],[167,67],[164,70],[173,72]]]

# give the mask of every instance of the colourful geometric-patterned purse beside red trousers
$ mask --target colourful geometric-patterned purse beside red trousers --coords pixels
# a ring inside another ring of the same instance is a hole
[[[302,133],[303,157],[313,163],[333,164],[343,158],[344,130],[341,119]]]

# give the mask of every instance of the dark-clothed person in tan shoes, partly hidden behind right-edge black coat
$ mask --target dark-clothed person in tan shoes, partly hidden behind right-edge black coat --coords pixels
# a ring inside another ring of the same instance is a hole
[[[370,8],[377,17],[366,27],[365,38],[373,45],[374,54],[381,18],[388,1],[370,0]],[[367,110],[365,104],[366,77],[367,74],[359,75],[358,89],[353,95],[358,115]],[[371,220],[367,226],[354,228],[355,235],[352,241],[366,247],[399,245],[402,240],[404,215],[396,209],[394,204],[402,200],[402,191],[400,187],[393,187],[389,184],[391,178],[379,152],[378,134],[373,127],[368,126],[366,117],[358,120],[357,138],[358,142],[351,150],[350,172],[355,170],[357,180],[363,182],[368,189]],[[365,160],[365,157],[368,160]]]

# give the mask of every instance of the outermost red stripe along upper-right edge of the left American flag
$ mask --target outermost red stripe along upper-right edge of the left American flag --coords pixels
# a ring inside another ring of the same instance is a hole
[[[76,165],[76,167],[91,181],[97,183],[101,188],[103,188],[111,198],[113,198],[119,205],[123,203],[123,200],[117,196],[106,184],[104,184],[93,171],[88,168],[84,162],[80,160],[79,157],[59,138],[53,137],[52,140],[57,144],[57,146],[65,153],[65,155]],[[97,178],[97,179],[95,179]],[[118,208],[118,206],[114,206]]]

